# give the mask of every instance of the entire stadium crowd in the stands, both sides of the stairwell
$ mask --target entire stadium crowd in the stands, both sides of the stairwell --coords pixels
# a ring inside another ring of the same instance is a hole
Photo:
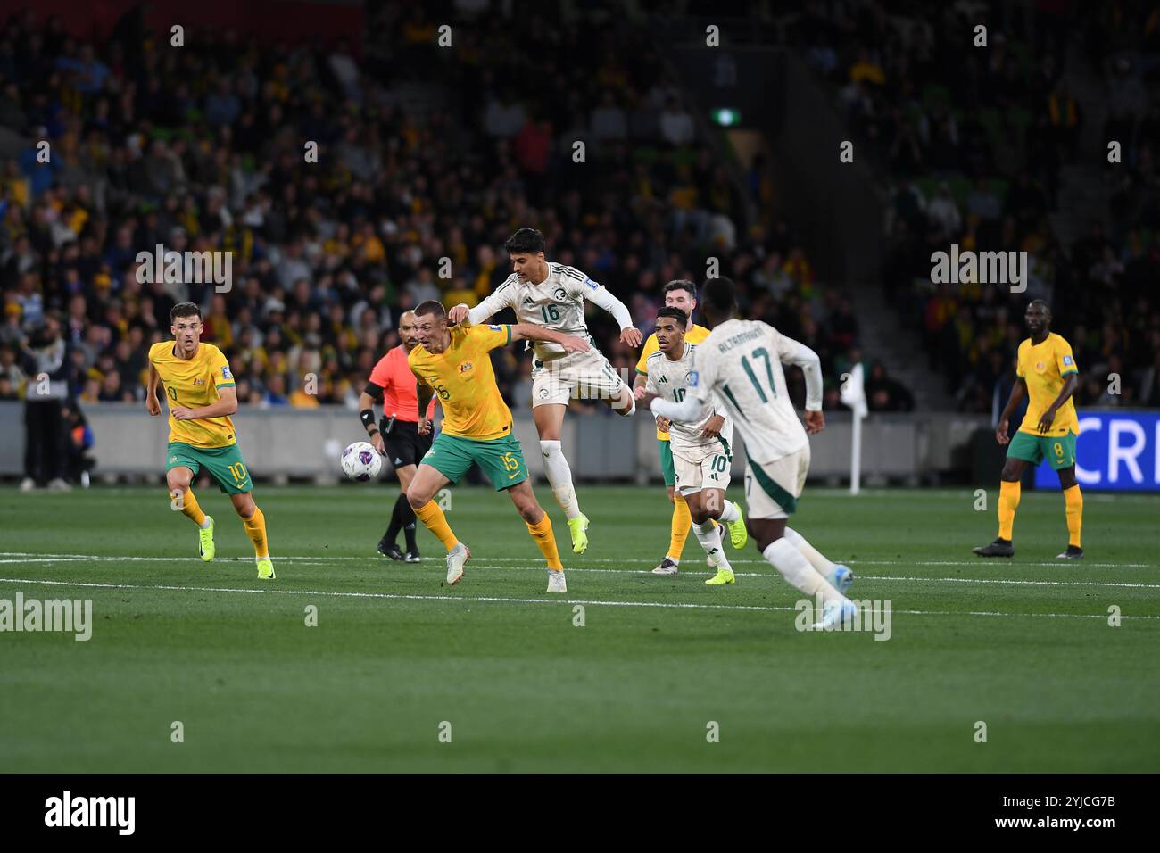
[[[858,319],[847,295],[815,280],[791,225],[768,215],[763,162],[733,180],[625,21],[532,12],[525,30],[543,50],[529,53],[486,6],[448,10],[464,24],[450,50],[423,6],[398,2],[372,5],[374,36],[354,46],[200,31],[177,51],[135,14],[100,43],[28,12],[0,22],[0,128],[23,140],[0,162],[0,399],[27,396],[52,316],[68,417],[140,400],[145,353],[168,334],[169,308],[190,298],[244,404],[353,407],[397,344],[399,315],[426,298],[474,304],[507,275],[503,240],[534,225],[552,260],[608,284],[645,333],[664,284],[702,281],[718,259],[746,316],[821,355],[836,407],[838,377],[863,357]],[[1067,247],[1049,217],[1063,165],[1087,156],[1085,116],[1064,84],[1066,26],[1051,3],[1028,15],[973,5],[992,27],[985,53],[959,38],[962,5],[931,16],[905,2],[810,2],[791,28],[890,175],[885,297],[962,410],[991,411],[1009,384],[1028,296],[1052,303],[1076,350],[1080,405],[1160,405],[1160,309],[1146,292],[1160,273],[1160,108],[1148,94],[1160,19],[1110,6],[1078,14],[1123,162],[1108,166],[1110,226]],[[951,243],[1027,251],[1027,296],[931,284],[930,253]],[[137,255],[158,245],[229,251],[230,289],[140,281]],[[590,324],[631,371],[611,318],[595,310]],[[525,409],[530,359],[494,360]],[[868,368],[872,410],[913,406],[880,364]],[[1100,378],[1110,374],[1118,393]]]

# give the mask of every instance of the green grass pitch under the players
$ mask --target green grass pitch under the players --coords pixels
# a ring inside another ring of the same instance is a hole
[[[94,616],[88,642],[0,634],[0,768],[1160,769],[1160,497],[1088,494],[1072,564],[1053,559],[1058,493],[1024,494],[1017,556],[985,562],[970,548],[994,536],[995,490],[976,512],[967,490],[807,489],[795,527],[855,570],[851,597],[892,602],[876,641],[796,630],[800,595],[752,544],[730,551],[735,586],[704,586],[694,536],[681,574],[650,574],[659,487],[579,490],[592,547],[565,555],[564,600],[491,491],[451,493],[473,554],[458,586],[426,530],[421,564],[377,557],[396,493],[260,486],[270,584],[216,489],[211,564],[161,486],[0,490],[0,598],[92,599]]]

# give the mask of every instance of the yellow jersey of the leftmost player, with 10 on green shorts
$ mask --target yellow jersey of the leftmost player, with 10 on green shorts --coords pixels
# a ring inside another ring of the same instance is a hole
[[[212,344],[200,344],[193,359],[174,355],[175,341],[164,340],[150,347],[148,360],[161,376],[169,402],[169,441],[194,447],[227,447],[238,441],[229,414],[218,418],[176,420],[175,406],[197,409],[217,403],[218,389],[233,388],[230,362]]]

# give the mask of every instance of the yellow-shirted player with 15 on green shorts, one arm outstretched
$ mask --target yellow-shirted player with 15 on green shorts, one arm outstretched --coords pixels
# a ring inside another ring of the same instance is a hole
[[[430,299],[415,308],[415,335],[419,345],[407,363],[418,381],[419,434],[430,433],[426,412],[435,393],[443,407],[443,428],[419,463],[407,499],[419,520],[447,548],[447,583],[459,583],[471,551],[451,533],[434,498],[476,463],[495,491],[510,496],[528,525],[548,561],[548,592],[567,592],[552,520],[531,491],[520,442],[512,434],[512,412],[495,384],[488,353],[514,340],[552,341],[565,353],[585,353],[588,341],[524,323],[449,327],[443,305]]]

